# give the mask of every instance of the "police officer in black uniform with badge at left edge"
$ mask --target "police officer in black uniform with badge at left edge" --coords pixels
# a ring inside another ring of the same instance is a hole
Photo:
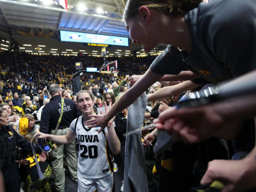
[[[20,175],[18,172],[17,150],[16,147],[22,147],[22,150],[31,151],[31,143],[24,140],[11,125],[8,124],[8,115],[6,109],[0,107],[0,167],[5,181],[6,191],[20,191]],[[36,147],[36,151],[41,151]],[[43,158],[46,156],[42,153]]]

